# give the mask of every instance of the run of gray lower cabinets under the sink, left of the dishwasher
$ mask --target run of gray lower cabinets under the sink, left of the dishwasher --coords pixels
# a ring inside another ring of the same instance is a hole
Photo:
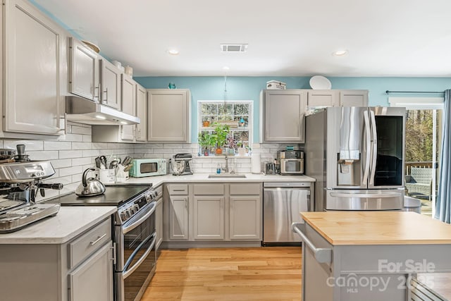
[[[164,241],[261,240],[261,183],[168,184]]]

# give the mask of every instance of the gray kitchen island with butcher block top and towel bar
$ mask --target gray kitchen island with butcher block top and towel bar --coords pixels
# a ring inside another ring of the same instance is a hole
[[[449,224],[400,211],[301,216],[304,301],[411,300],[412,276],[428,274],[433,283],[433,273],[451,271]]]

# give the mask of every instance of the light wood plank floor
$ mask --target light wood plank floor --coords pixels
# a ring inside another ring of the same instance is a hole
[[[142,301],[301,300],[301,248],[162,250]]]

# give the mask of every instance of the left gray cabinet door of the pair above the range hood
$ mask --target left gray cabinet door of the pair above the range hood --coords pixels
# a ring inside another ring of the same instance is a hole
[[[69,92],[99,100],[99,56],[74,37],[70,38]]]

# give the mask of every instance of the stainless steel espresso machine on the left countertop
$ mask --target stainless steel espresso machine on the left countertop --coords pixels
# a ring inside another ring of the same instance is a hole
[[[59,204],[37,204],[37,191],[61,190],[63,184],[42,183],[54,175],[49,161],[23,161],[0,164],[0,233],[21,228],[58,214]]]

